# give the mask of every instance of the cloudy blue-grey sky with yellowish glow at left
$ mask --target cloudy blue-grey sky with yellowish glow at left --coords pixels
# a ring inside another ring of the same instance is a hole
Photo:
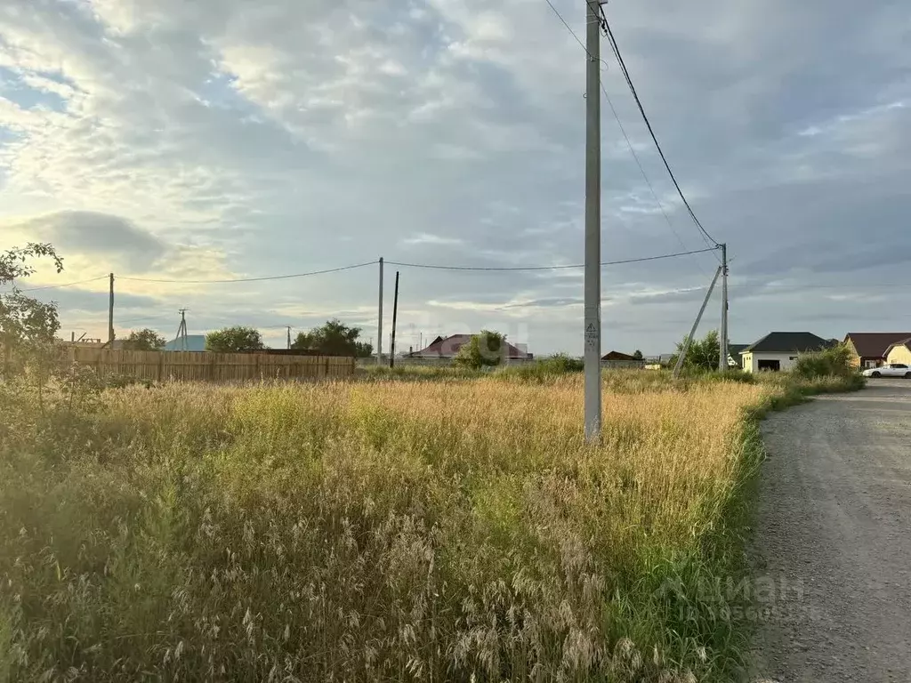
[[[554,5],[584,39],[585,3]],[[728,244],[731,341],[911,329],[911,7],[606,11],[682,189]],[[704,248],[602,56],[648,178],[602,102],[602,260]],[[66,337],[107,337],[114,272],[118,336],[173,338],[184,308],[191,334],[245,324],[281,346],[286,325],[339,318],[375,343],[380,257],[582,262],[585,57],[545,0],[4,0],[0,249],[63,256],[23,288],[97,278],[33,292]],[[605,267],[602,349],[670,352],[715,256]],[[395,270],[399,349],[486,328],[582,351],[579,269],[387,265],[384,334]],[[715,293],[701,331],[720,314]]]

